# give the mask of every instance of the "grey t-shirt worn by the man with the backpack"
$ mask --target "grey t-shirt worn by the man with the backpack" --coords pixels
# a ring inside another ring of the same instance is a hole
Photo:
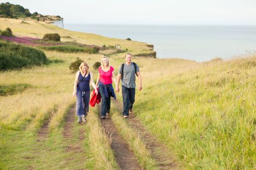
[[[137,64],[136,64],[136,71],[137,72],[140,71]],[[118,73],[122,74],[122,65],[120,65]],[[124,63],[122,86],[125,86],[127,88],[135,88],[136,87],[135,80],[136,80],[136,75],[135,75],[135,68],[133,63],[131,63],[131,65],[127,65],[126,63]]]

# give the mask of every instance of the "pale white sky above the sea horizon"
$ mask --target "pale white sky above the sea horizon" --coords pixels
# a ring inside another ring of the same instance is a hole
[[[22,0],[18,4],[64,23],[102,25],[256,25],[256,0]]]

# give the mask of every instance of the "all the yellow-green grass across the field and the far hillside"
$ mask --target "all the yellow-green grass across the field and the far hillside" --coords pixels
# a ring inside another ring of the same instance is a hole
[[[0,29],[10,27],[16,36],[41,38],[46,33],[58,33],[61,37],[70,36],[67,41],[89,45],[120,44],[132,54],[151,52],[146,43],[67,31],[42,22],[28,20],[29,25],[20,22],[0,18]],[[75,103],[72,98],[75,75],[69,65],[77,57],[87,61],[96,79],[97,71],[92,66],[102,55],[49,51],[45,54],[50,61],[61,62],[0,72],[0,85],[31,86],[18,93],[0,95],[0,169],[69,169],[78,167],[77,162],[82,160],[76,158],[79,154],[72,156],[74,153],[66,154],[63,149],[78,139],[66,141],[61,135],[63,118]],[[124,62],[123,56],[124,53],[109,55],[116,74]],[[255,54],[204,63],[144,57],[134,57],[133,61],[140,67],[143,85],[141,91],[136,91],[134,112],[152,134],[173,150],[186,169],[255,168]],[[120,100],[121,93],[117,96]],[[49,116],[50,135],[44,142],[36,142],[37,131]],[[109,139],[96,135],[102,132],[97,116],[91,115],[89,119],[92,122],[84,127],[89,132],[84,135],[86,152],[81,154],[87,160],[84,167],[106,168],[102,163],[100,167],[94,166],[99,162],[96,153],[103,150],[99,155],[108,160],[108,168],[118,168]],[[74,123],[75,136],[80,128]],[[106,145],[99,148],[94,141],[104,141]],[[67,164],[69,157],[74,162]],[[60,163],[54,162],[56,159]]]

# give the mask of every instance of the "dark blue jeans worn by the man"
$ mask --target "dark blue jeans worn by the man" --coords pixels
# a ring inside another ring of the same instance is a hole
[[[135,88],[127,88],[122,86],[123,96],[123,115],[129,115],[129,109],[133,108],[135,102]]]

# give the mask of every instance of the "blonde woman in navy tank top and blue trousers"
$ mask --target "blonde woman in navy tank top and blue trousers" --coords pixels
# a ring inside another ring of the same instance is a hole
[[[89,65],[86,62],[82,62],[79,66],[79,71],[76,72],[73,91],[73,96],[76,95],[77,123],[86,122],[86,116],[89,112],[90,82],[97,94],[98,90],[93,81],[93,73],[89,70]]]

